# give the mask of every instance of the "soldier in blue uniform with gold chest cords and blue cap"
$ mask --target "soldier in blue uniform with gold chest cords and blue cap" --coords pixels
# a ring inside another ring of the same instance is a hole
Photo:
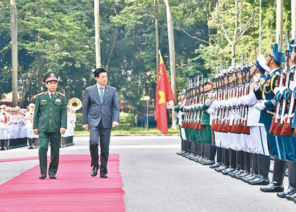
[[[266,58],[266,65],[270,68],[270,74],[261,87],[256,85],[254,89],[257,99],[264,100],[261,103],[257,103],[255,108],[261,111],[259,122],[265,126],[271,154],[275,157],[272,182],[265,187],[261,187],[260,190],[262,192],[283,192],[284,190],[282,182],[287,166],[285,144],[282,137],[270,133],[270,128],[273,127],[272,119],[276,112],[275,107],[277,104],[274,89],[278,87],[281,63],[285,61],[285,56],[278,43],[275,43],[272,51],[268,52],[268,57]]]

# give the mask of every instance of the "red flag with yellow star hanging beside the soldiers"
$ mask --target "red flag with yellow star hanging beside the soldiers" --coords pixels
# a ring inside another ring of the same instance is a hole
[[[159,57],[156,99],[155,99],[155,118],[157,128],[164,135],[168,133],[167,102],[174,100],[171,83],[165,70],[162,57]]]

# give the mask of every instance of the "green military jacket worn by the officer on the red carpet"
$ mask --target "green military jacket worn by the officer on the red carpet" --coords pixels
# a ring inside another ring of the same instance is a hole
[[[33,129],[39,133],[59,133],[60,128],[67,128],[67,102],[63,94],[55,92],[52,99],[48,92],[37,95]]]

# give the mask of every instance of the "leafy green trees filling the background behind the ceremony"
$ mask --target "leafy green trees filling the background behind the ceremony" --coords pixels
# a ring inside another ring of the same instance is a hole
[[[118,89],[122,104],[138,111],[140,97],[155,98],[156,2],[159,49],[169,72],[165,2],[100,0],[102,66],[109,70],[109,84]],[[263,53],[276,41],[275,2],[262,0]],[[291,25],[290,4],[284,0],[284,30]],[[68,99],[82,99],[85,87],[95,83],[94,1],[16,0],[16,5],[20,106],[35,100],[42,76],[50,70],[60,74],[59,90]],[[207,76],[217,65],[229,64],[234,56],[247,51],[250,61],[258,56],[258,1],[170,0],[170,8],[176,90],[183,89],[188,78]],[[12,91],[11,61],[10,4],[5,0],[0,1],[0,95]]]

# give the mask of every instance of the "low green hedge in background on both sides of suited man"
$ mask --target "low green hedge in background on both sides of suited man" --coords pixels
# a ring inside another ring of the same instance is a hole
[[[123,113],[119,114],[119,127],[113,128],[114,131],[129,131],[134,125],[134,115]],[[84,131],[82,128],[82,113],[76,113],[75,131]]]

